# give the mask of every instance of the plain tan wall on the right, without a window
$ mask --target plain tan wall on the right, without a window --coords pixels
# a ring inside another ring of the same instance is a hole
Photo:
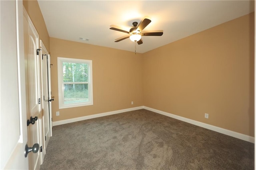
[[[254,136],[254,13],[144,53],[143,64],[144,106]]]

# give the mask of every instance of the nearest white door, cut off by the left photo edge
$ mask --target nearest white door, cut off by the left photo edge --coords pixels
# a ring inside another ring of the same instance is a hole
[[[0,1],[0,169],[28,169],[22,1]]]

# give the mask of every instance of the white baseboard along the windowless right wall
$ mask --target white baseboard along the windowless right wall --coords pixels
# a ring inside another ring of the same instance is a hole
[[[173,115],[171,113],[167,113],[167,112],[164,112],[164,111],[159,111],[159,110],[152,109],[152,108],[146,107],[146,106],[143,106],[143,109],[146,109],[146,110],[149,110],[149,111],[152,111],[152,112],[155,112],[155,113],[159,113],[161,115],[165,115],[165,116],[168,116],[168,117],[172,117],[174,119],[178,119],[180,121],[184,121],[184,122],[190,123],[192,125],[207,128],[207,129],[213,130],[215,132],[219,132],[219,133],[222,133],[222,134],[226,134],[228,136],[232,136],[232,137],[235,137],[235,138],[238,138],[238,139],[242,139],[242,140],[254,143],[254,137],[252,137],[252,136],[248,136],[248,135],[245,135],[245,134],[242,134],[242,133],[234,132],[232,130],[216,127],[216,126],[209,125],[209,124],[206,124],[206,123],[194,121],[192,119],[188,119],[188,118],[185,118],[185,117]]]

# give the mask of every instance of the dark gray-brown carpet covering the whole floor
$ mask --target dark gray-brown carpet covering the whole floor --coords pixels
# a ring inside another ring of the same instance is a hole
[[[41,170],[252,170],[254,144],[145,109],[53,127]]]

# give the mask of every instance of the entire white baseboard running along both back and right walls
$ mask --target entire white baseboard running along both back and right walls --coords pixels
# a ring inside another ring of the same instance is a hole
[[[84,120],[87,120],[87,119],[93,119],[93,118],[97,118],[97,117],[114,115],[114,114],[128,112],[128,111],[135,111],[135,110],[139,110],[139,109],[146,109],[146,110],[149,110],[149,111],[152,111],[152,112],[155,112],[155,113],[159,113],[161,115],[165,115],[165,116],[168,116],[168,117],[172,117],[174,119],[178,119],[180,121],[184,121],[186,123],[190,123],[192,125],[207,128],[207,129],[213,130],[215,132],[219,132],[219,133],[222,133],[222,134],[226,134],[228,136],[232,136],[234,138],[238,138],[238,139],[241,139],[241,140],[245,140],[245,141],[254,143],[254,137],[252,137],[252,136],[248,136],[248,135],[245,135],[245,134],[242,134],[242,133],[234,132],[232,130],[216,127],[216,126],[209,125],[209,124],[206,124],[206,123],[194,121],[192,119],[188,119],[188,118],[181,117],[181,116],[178,116],[178,115],[173,115],[171,113],[167,113],[167,112],[164,112],[164,111],[152,109],[152,108],[146,107],[146,106],[132,107],[132,108],[122,109],[122,110],[118,110],[118,111],[110,111],[110,112],[106,112],[106,113],[99,113],[99,114],[95,114],[95,115],[77,117],[77,118],[73,118],[73,119],[66,119],[66,120],[63,120],[63,121],[56,121],[56,122],[52,122],[52,126],[63,125],[63,124],[66,124],[66,123],[73,123],[73,122],[78,122],[78,121],[84,121]]]

